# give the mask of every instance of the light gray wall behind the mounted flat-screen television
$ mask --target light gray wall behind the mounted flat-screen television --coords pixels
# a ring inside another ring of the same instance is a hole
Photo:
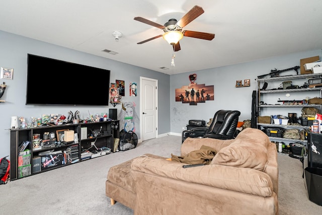
[[[11,116],[25,117],[27,122],[30,122],[30,117],[41,117],[42,114],[58,113],[68,115],[68,111],[73,113],[76,110],[80,111],[81,118],[85,119],[91,114],[107,112],[109,108],[114,108],[111,104],[109,106],[34,106],[25,105],[26,102],[26,77],[27,77],[27,53],[36,54],[55,59],[61,59],[79,64],[95,66],[99,68],[111,70],[111,82],[115,80],[125,81],[125,96],[122,97],[123,102],[133,101],[136,103],[136,111],[139,114],[140,110],[140,92],[138,96],[130,97],[128,84],[129,82],[140,83],[140,77],[146,77],[158,80],[158,114],[162,120],[158,121],[158,133],[164,134],[170,132],[170,76],[162,73],[157,73],[149,69],[129,65],[126,63],[109,60],[103,57],[86,54],[83,52],[67,49],[49,43],[44,43],[38,40],[10,34],[0,31],[0,66],[14,68],[13,80],[1,79],[0,82],[6,82],[7,89],[4,96],[0,100],[6,102],[0,103],[0,157],[10,155],[10,125]],[[45,71],[44,71],[45,72]],[[41,88],[46,85],[68,84],[70,80],[64,80],[63,74],[59,74],[53,80],[39,80],[39,92]],[[105,84],[104,80],[93,78],[89,80],[88,86],[79,86],[79,92],[86,92],[86,94],[94,94],[91,92],[91,85]],[[107,86],[109,87],[109,86]],[[139,87],[138,87],[139,90]],[[40,96],[40,95],[35,95]],[[49,95],[48,95],[49,96]],[[72,95],[66,95],[72,96]],[[85,97],[85,99],[94,99],[93,97]],[[118,113],[121,109],[121,104],[115,108]],[[140,126],[136,125],[136,133],[140,138]]]

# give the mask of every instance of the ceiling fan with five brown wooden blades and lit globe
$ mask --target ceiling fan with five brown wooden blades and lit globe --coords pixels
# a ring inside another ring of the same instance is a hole
[[[179,51],[181,49],[179,40],[181,40],[184,36],[194,37],[197,39],[212,40],[215,37],[215,34],[182,30],[182,28],[184,28],[186,25],[188,25],[190,22],[192,22],[194,19],[196,19],[203,13],[204,10],[201,7],[194,6],[186,15],[184,15],[181,18],[181,20],[177,21],[176,19],[170,19],[169,22],[165,23],[165,25],[157,24],[142,17],[134,17],[134,20],[136,21],[162,29],[165,32],[163,35],[157,35],[147,40],[138,42],[137,44],[142,44],[150,40],[163,37],[165,40],[168,41],[168,43],[170,43],[173,46],[174,51]]]

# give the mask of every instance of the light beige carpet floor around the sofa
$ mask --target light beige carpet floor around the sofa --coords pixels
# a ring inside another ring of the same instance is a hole
[[[0,214],[133,214],[105,196],[110,167],[145,153],[171,157],[180,155],[181,137],[165,136],[140,143],[137,148],[98,157],[63,168],[0,185]],[[278,156],[279,214],[322,214],[307,197],[302,163]],[[237,213],[236,213],[237,214]]]

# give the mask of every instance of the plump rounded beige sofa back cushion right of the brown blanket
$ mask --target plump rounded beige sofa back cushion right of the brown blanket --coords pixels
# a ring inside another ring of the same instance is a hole
[[[269,144],[269,137],[263,131],[256,128],[246,128],[237,135],[229,146],[217,152],[211,164],[265,171]]]

